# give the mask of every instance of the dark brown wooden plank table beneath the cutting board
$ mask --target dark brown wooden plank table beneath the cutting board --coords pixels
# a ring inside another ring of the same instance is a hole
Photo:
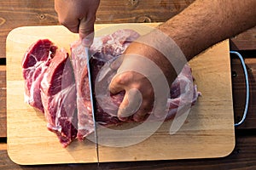
[[[102,0],[96,23],[165,21],[192,2],[193,0]],[[5,40],[9,31],[15,27],[49,25],[58,25],[53,0],[0,0],[0,169],[98,168],[96,164],[19,166],[12,162],[7,154]],[[247,120],[240,127],[236,127],[236,148],[230,156],[198,160],[101,163],[99,169],[255,169],[256,27],[231,38],[230,50],[237,50],[244,56],[251,90]],[[231,68],[234,118],[237,122],[244,108],[245,84],[240,61],[234,56],[231,56]]]

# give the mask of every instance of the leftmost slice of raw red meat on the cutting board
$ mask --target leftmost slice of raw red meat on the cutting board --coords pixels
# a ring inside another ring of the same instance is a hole
[[[44,112],[41,101],[40,82],[47,70],[56,47],[48,39],[38,40],[27,49],[22,59],[22,74],[25,81],[25,100],[29,105]]]

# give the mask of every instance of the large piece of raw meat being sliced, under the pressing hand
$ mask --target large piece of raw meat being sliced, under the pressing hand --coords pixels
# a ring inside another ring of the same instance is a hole
[[[91,72],[93,88],[95,87],[97,74],[101,70],[102,66],[108,63],[110,60],[116,59],[121,54],[123,54],[125,48],[127,48],[131,42],[135,41],[137,37],[139,37],[139,34],[136,31],[121,30],[105,37],[97,37],[94,40],[94,43],[90,48],[91,54],[93,54],[90,59],[90,65],[92,67]],[[79,117],[79,139],[84,139],[84,137],[94,131],[93,118],[91,115],[89,80],[87,75],[86,62],[87,59],[84,47],[80,44],[80,42],[74,42],[72,44],[72,63],[77,83],[76,87],[78,95],[77,105]],[[105,79],[102,81],[110,82],[112,77],[113,74],[107,74],[104,76]],[[195,104],[195,101],[199,95],[196,86],[194,86],[194,96],[192,102],[189,101],[190,103],[186,103],[186,93],[180,94],[180,83],[183,82],[183,86],[186,86],[193,83],[191,80],[193,80],[191,69],[189,68],[189,65],[185,65],[183,71],[180,73],[180,75],[178,75],[177,79],[172,84],[172,98],[168,99],[170,108],[166,116],[166,120],[169,120],[175,116],[180,103],[183,103],[183,105]],[[103,91],[108,91],[108,87],[102,87],[101,84],[99,86],[101,86],[100,88],[102,88]],[[106,108],[108,108],[107,110],[110,112],[116,112],[122,99],[124,98],[124,94],[124,92],[121,92],[119,94],[109,96],[102,95],[101,105],[99,105],[98,101],[96,101],[96,122],[105,127],[116,126],[124,123],[119,121],[117,116],[112,116],[111,114],[108,114],[109,112],[106,112]],[[181,102],[182,100],[184,102]],[[155,118],[155,120],[157,120],[157,118]],[[132,117],[127,120],[127,122],[132,121]]]

